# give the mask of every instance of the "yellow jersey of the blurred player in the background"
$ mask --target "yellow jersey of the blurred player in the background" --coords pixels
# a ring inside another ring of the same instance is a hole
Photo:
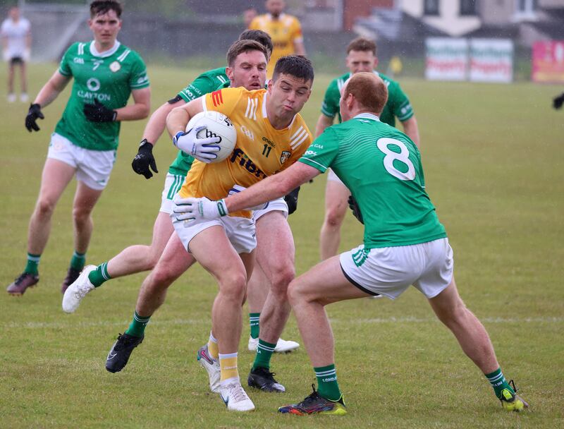
[[[249,30],[262,30],[270,36],[274,44],[274,50],[266,66],[266,77],[272,78],[274,66],[279,58],[295,53],[294,42],[302,42],[302,26],[295,16],[281,13],[278,19],[273,19],[270,13],[255,17]]]

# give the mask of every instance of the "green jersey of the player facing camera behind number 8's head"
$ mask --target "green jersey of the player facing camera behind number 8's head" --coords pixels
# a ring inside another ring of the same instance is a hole
[[[410,100],[401,89],[400,84],[377,71],[374,71],[374,73],[379,75],[388,87],[388,102],[386,102],[386,106],[384,106],[384,110],[380,115],[380,121],[391,126],[396,126],[396,118],[398,118],[400,122],[410,119],[413,116],[413,109]],[[350,72],[331,80],[325,92],[323,104],[321,104],[321,113],[325,116],[329,116],[329,118],[334,118],[335,115],[338,115],[339,122],[341,122],[341,113],[339,113],[341,88],[348,78],[350,78]]]

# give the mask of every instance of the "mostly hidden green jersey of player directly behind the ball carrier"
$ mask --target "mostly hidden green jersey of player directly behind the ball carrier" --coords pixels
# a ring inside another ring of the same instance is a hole
[[[202,97],[202,95],[206,95],[208,92],[215,91],[218,87],[228,85],[228,83],[229,79],[225,73],[225,67],[214,68],[214,70],[209,70],[199,75],[194,82],[178,92],[178,95],[188,103],[192,99]],[[179,150],[176,159],[168,167],[168,173],[186,176],[188,170],[192,167],[192,162],[194,162],[194,158]]]

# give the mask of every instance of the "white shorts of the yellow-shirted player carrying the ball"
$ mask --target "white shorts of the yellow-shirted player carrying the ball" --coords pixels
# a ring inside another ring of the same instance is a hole
[[[224,216],[220,219],[195,221],[178,221],[171,214],[174,230],[186,250],[190,252],[190,241],[204,229],[214,225],[223,226],[227,238],[237,253],[251,253],[257,247],[255,221],[246,217]]]

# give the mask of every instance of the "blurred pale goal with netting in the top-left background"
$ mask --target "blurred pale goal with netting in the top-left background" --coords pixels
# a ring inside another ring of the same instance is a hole
[[[18,0],[25,18],[32,24],[32,52],[34,62],[59,61],[65,49],[74,40],[89,40],[89,32],[81,34],[90,18],[85,0]]]

